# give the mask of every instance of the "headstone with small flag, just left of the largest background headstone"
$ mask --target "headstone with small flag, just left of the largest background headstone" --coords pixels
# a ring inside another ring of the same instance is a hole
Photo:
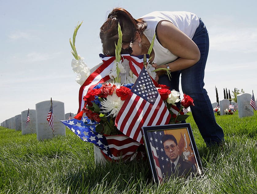
[[[21,112],[21,134],[26,135],[29,133],[36,133],[37,128],[36,128],[36,110],[35,109],[29,109],[29,124],[25,128],[26,121],[27,121],[27,116],[28,116],[28,110],[22,111]]]

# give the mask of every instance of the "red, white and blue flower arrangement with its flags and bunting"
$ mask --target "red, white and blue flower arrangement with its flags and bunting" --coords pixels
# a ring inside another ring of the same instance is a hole
[[[73,43],[70,41],[72,54],[75,56],[79,56],[75,37],[80,25],[74,30]],[[149,55],[121,55],[120,26],[118,32],[116,56],[100,54],[103,64],[91,74],[86,74],[88,77],[80,88],[79,113],[74,119],[62,123],[83,141],[98,147],[106,159],[125,161],[144,156],[144,152],[141,152],[144,149],[142,126],[179,123],[188,117],[182,109],[194,104],[193,99],[184,94],[181,107],[176,106],[175,103],[180,101],[180,93],[154,82],[151,73],[147,71],[149,68],[145,66]],[[130,79],[126,79],[125,83],[121,81],[124,80],[121,74],[126,73],[124,59],[129,61],[130,70],[133,71],[133,75],[130,72]],[[79,64],[84,65],[82,62]],[[87,69],[83,65],[78,69]],[[126,83],[128,80],[135,82]]]

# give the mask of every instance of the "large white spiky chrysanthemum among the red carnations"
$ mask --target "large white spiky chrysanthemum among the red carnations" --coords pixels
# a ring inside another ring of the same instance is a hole
[[[101,102],[101,105],[102,105],[101,109],[103,109],[102,112],[110,112],[109,115],[116,117],[123,103],[124,101],[121,100],[120,97],[118,97],[115,93],[113,93],[113,95],[108,95],[106,99],[104,99]]]

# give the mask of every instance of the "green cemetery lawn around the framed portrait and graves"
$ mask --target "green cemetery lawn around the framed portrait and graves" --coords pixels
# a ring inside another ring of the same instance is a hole
[[[189,113],[191,115],[191,113]],[[96,165],[91,143],[72,131],[38,141],[36,134],[0,128],[0,193],[256,193],[257,111],[216,116],[222,147],[207,148],[190,116],[204,175],[153,183],[148,161]]]

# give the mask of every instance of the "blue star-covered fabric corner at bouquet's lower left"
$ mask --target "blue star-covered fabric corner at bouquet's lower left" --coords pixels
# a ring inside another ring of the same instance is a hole
[[[84,117],[82,120],[71,119],[60,121],[75,133],[80,139],[86,142],[93,143],[96,147],[103,151],[108,157],[113,158],[106,137],[95,132],[95,127],[98,124],[95,121]]]

